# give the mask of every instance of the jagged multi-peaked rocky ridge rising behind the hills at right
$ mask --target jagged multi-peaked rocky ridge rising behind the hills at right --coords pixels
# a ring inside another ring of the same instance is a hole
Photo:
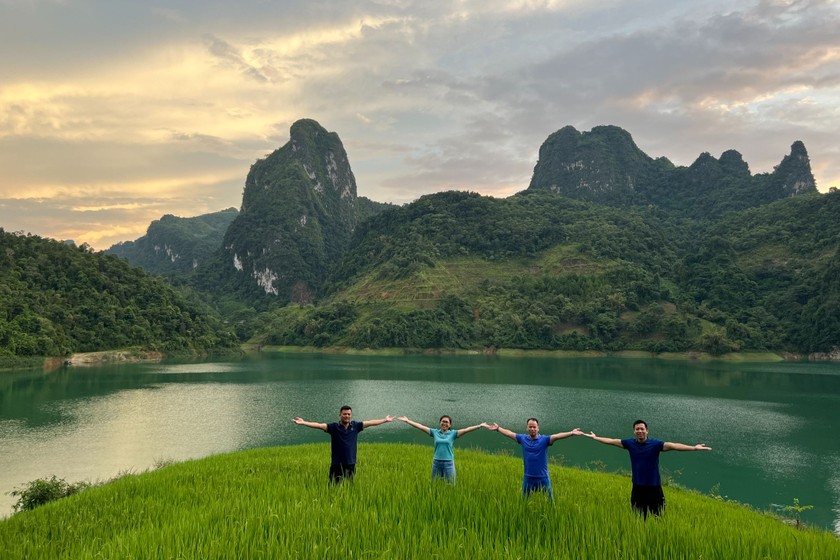
[[[550,190],[610,206],[657,206],[678,215],[714,218],[817,192],[801,141],[772,173],[753,176],[736,150],[716,159],[704,152],[688,167],[652,159],[616,126],[578,132],[566,126],[540,147],[529,189]]]

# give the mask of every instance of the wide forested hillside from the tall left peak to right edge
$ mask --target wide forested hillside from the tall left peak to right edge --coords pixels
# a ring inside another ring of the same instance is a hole
[[[356,232],[318,305],[268,344],[829,352],[840,193],[677,219],[548,192],[429,195]]]

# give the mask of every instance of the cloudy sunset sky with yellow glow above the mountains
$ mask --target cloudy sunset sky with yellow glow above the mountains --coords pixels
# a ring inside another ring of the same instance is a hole
[[[0,0],[0,228],[103,250],[239,208],[302,118],[358,194],[527,188],[566,125],[840,187],[840,0]]]

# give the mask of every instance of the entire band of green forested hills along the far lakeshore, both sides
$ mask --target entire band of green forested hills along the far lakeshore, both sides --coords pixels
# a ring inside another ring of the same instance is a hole
[[[539,190],[506,199],[444,192],[360,223],[311,303],[262,308],[197,290],[189,273],[164,281],[85,247],[3,233],[0,351],[250,341],[831,352],[840,345],[838,215],[838,192],[719,220]]]

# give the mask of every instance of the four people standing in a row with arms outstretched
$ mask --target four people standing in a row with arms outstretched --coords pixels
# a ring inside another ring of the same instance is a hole
[[[339,410],[338,422],[322,423],[308,422],[295,417],[293,422],[301,426],[323,430],[330,435],[332,461],[330,464],[330,482],[339,483],[344,479],[352,480],[356,472],[356,443],[359,432],[365,428],[378,426],[386,422],[400,420],[409,426],[426,432],[434,438],[434,456],[432,458],[432,479],[440,478],[455,484],[455,440],[464,434],[479,428],[498,432],[514,440],[522,447],[522,461],[524,476],[522,493],[540,491],[553,497],[551,479],[548,475],[548,448],[558,439],[571,436],[584,436],[606,445],[621,447],[630,455],[633,490],[630,494],[630,504],[633,509],[644,515],[659,515],[665,507],[665,495],[662,492],[662,481],[659,474],[659,454],[664,451],[711,451],[702,443],[685,445],[670,441],[648,437],[648,425],[644,420],[633,423],[632,438],[618,439],[595,435],[594,432],[585,433],[580,428],[568,432],[558,432],[551,435],[540,434],[540,423],[536,418],[526,421],[526,432],[517,434],[512,430],[502,428],[496,423],[482,422],[474,426],[454,430],[452,418],[449,415],[440,417],[440,428],[430,428],[419,422],[410,420],[407,416],[386,416],[377,420],[358,422],[353,420],[353,410],[349,406],[342,406]]]

